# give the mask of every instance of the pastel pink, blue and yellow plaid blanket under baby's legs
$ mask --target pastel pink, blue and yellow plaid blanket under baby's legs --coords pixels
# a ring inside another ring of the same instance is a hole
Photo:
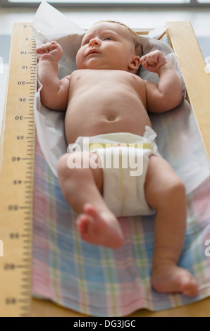
[[[57,178],[37,142],[32,293],[90,316],[125,316],[140,308],[159,311],[210,295],[210,182],[187,194],[187,234],[179,264],[199,284],[195,298],[160,294],[150,285],[154,216],[121,218],[119,249],[87,244],[75,227]]]

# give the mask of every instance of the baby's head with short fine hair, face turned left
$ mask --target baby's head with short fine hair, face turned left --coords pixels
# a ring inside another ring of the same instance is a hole
[[[123,23],[101,21],[87,30],[76,56],[78,69],[112,69],[138,73],[142,44]]]

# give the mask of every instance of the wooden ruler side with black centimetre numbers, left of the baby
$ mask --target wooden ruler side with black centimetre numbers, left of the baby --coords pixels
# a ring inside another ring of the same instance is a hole
[[[31,300],[37,58],[31,23],[15,23],[0,144],[0,316]]]

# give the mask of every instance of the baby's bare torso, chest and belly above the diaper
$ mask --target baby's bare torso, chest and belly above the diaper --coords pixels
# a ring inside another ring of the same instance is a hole
[[[112,132],[144,135],[151,126],[144,81],[122,70],[76,70],[66,112],[68,144]]]

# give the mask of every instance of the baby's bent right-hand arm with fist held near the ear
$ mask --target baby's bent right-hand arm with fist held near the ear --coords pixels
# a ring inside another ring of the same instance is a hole
[[[148,111],[161,113],[178,106],[183,97],[182,87],[173,65],[166,60],[161,51],[152,51],[142,56],[140,61],[145,69],[159,75],[158,85],[145,82]]]

